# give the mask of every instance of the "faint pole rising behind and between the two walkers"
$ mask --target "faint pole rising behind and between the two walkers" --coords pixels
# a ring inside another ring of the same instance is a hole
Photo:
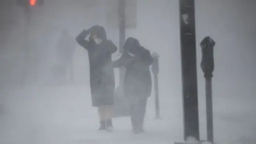
[[[120,54],[123,53],[123,47],[125,43],[125,0],[119,0],[119,52]],[[123,67],[119,68],[119,87],[123,91],[123,82],[124,82],[124,75],[125,69]]]

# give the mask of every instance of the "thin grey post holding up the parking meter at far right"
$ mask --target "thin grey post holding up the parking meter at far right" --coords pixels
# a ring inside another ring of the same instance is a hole
[[[207,140],[213,143],[212,78],[205,79]]]

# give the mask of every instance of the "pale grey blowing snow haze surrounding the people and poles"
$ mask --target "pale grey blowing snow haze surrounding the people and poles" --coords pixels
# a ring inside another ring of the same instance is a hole
[[[0,143],[174,143],[183,138],[180,21],[178,0],[137,0],[137,27],[132,36],[160,55],[159,96],[162,120],[154,120],[154,90],[146,113],[148,133],[130,134],[130,119],[116,118],[113,134],[98,134],[98,115],[90,101],[88,53],[76,45],[75,82],[53,86],[50,67],[56,63],[56,41],[63,28],[75,37],[98,24],[119,47],[118,28],[108,26],[107,0],[45,0],[32,9],[32,58],[26,84],[24,68],[25,17],[15,1],[0,7]],[[256,2],[195,0],[200,138],[206,139],[205,79],[200,68],[200,42],[210,36],[214,46],[214,137],[219,144],[256,142]],[[119,52],[113,54],[118,58]],[[116,86],[119,84],[115,70]],[[96,124],[95,124],[96,123]],[[125,123],[125,124],[124,124]],[[125,125],[125,126],[124,126]],[[127,126],[126,126],[127,125]]]

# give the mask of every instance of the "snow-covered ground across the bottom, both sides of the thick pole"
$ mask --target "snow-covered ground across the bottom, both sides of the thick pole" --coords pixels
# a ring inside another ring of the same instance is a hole
[[[181,104],[180,96],[160,97],[162,120],[155,120],[154,97],[150,97],[144,134],[133,134],[127,117],[115,118],[115,130],[110,133],[97,130],[97,110],[91,106],[86,87],[6,89],[1,91],[0,143],[174,144],[183,137]],[[232,101],[230,104],[236,105]],[[217,105],[221,106],[221,102]],[[228,108],[216,108],[217,105],[214,108],[216,143],[253,144],[255,114],[232,112]],[[202,139],[206,138],[205,125],[205,114],[200,112]]]

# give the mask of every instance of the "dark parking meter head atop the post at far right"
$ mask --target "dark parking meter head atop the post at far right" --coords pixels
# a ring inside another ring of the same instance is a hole
[[[200,66],[204,72],[204,77],[206,79],[212,78],[212,72],[214,71],[213,47],[215,46],[215,42],[212,38],[207,36],[202,40],[200,46],[202,48],[202,61]]]

